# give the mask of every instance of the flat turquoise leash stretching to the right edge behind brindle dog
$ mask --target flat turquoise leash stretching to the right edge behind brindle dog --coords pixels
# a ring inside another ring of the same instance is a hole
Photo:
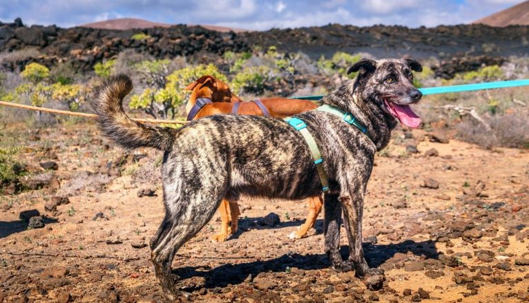
[[[493,90],[496,88],[519,87],[519,86],[526,86],[526,85],[529,85],[529,79],[495,81],[495,82],[484,82],[484,83],[463,84],[463,85],[449,85],[449,86],[440,86],[440,87],[425,87],[425,88],[419,88],[419,90],[421,91],[421,93],[423,93],[424,96],[427,96],[430,94],[448,94],[450,92],[472,92],[474,90]],[[290,98],[318,101],[321,98],[323,98],[323,95],[294,96]]]

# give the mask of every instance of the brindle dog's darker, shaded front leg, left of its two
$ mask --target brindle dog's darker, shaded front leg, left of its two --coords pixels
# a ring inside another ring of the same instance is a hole
[[[325,195],[325,224],[323,232],[325,233],[325,253],[331,262],[331,267],[335,271],[350,271],[352,267],[349,263],[343,262],[340,255],[340,225],[342,207],[338,201],[337,194]]]

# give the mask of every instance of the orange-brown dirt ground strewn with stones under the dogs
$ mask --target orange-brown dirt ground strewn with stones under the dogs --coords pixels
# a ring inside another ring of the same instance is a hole
[[[24,146],[20,160],[52,180],[0,196],[0,302],[164,302],[146,245],[164,215],[161,154],[125,154],[91,123],[17,129],[6,132]],[[385,271],[381,289],[328,268],[323,213],[315,234],[288,238],[307,202],[245,198],[239,233],[211,242],[217,213],[178,251],[182,300],[528,301],[529,152],[428,138],[397,130],[375,161],[363,227],[367,262]],[[58,167],[45,171],[46,161]],[[43,228],[21,220],[32,209]],[[269,213],[280,223],[262,220]],[[344,229],[342,243],[346,256]]]

